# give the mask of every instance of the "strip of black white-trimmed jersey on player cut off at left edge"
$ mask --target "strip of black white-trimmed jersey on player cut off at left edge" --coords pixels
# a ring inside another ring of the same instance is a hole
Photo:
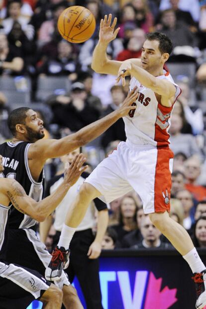
[[[6,259],[6,247],[8,241],[8,222],[11,205],[8,207],[0,204],[0,260]]]

